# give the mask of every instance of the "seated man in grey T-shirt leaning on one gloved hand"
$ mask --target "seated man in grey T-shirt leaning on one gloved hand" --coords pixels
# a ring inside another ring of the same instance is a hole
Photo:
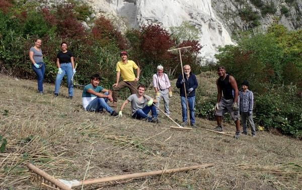
[[[131,102],[132,117],[136,119],[146,119],[149,122],[159,123],[158,114],[156,112],[156,107],[153,103],[157,103],[157,100],[144,95],[145,86],[139,85],[137,87],[137,93],[132,94],[124,101],[119,111],[119,115],[123,116],[122,110],[125,105]],[[148,113],[151,111],[151,115]]]

